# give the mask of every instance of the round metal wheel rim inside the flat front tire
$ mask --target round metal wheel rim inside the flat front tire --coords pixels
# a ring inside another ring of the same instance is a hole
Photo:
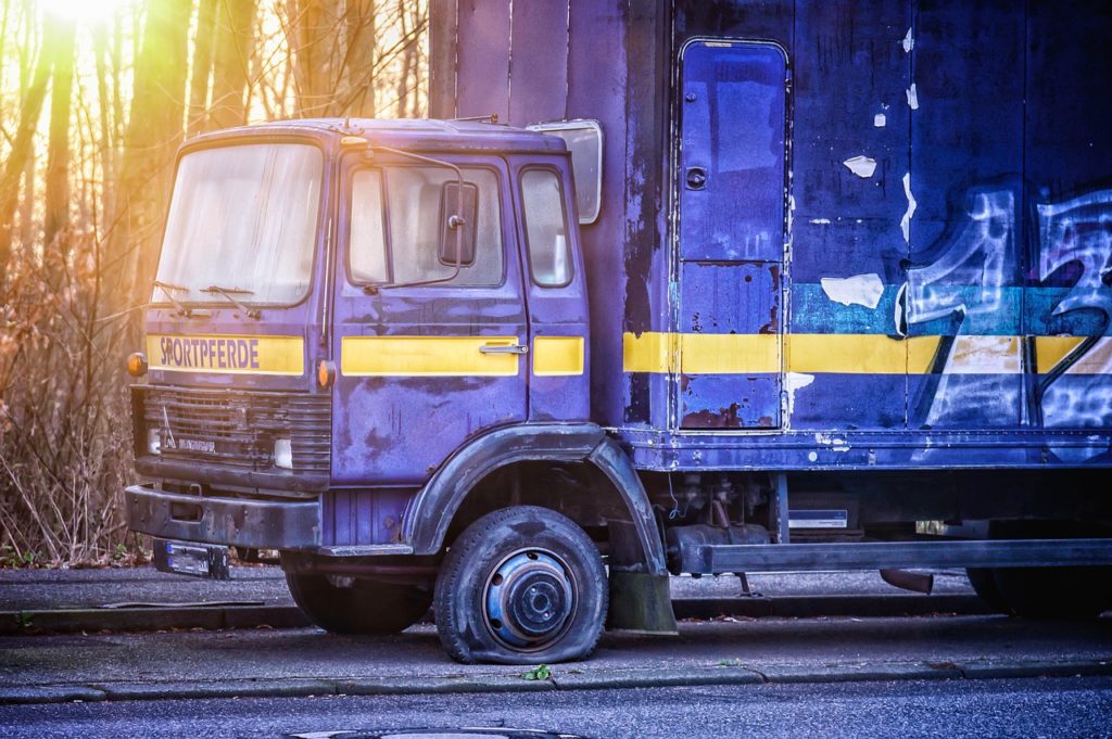
[[[567,566],[545,549],[504,559],[487,579],[485,596],[490,632],[518,649],[539,649],[563,636],[576,605]]]

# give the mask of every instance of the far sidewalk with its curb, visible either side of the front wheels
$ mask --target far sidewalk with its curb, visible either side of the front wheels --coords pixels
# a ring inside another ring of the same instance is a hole
[[[935,595],[907,593],[876,572],[762,575],[742,597],[734,577],[672,579],[679,619],[984,613],[956,572]],[[232,579],[167,575],[152,567],[0,571],[0,635],[309,626],[277,567],[240,567]]]

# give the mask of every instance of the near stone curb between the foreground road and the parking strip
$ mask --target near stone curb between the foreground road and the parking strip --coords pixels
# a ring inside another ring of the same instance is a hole
[[[91,682],[0,687],[0,705],[175,700],[199,698],[309,698],[316,696],[415,696],[436,693],[613,690],[695,686],[868,682],[895,680],[980,680],[1036,677],[1112,676],[1112,660],[877,662],[837,665],[729,665],[646,670],[553,668],[548,680],[516,675],[385,677],[327,680],[240,679],[200,682]]]

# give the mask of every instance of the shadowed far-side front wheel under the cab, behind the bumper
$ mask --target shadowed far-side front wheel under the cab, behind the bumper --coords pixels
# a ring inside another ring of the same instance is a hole
[[[356,580],[336,586],[326,575],[286,572],[289,592],[314,623],[335,633],[397,633],[428,611],[433,591],[410,583]]]

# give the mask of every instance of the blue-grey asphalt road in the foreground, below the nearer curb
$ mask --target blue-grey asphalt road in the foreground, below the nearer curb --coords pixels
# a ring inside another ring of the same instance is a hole
[[[1109,737],[1112,678],[0,706],[0,736],[285,737],[507,726],[586,737]]]

